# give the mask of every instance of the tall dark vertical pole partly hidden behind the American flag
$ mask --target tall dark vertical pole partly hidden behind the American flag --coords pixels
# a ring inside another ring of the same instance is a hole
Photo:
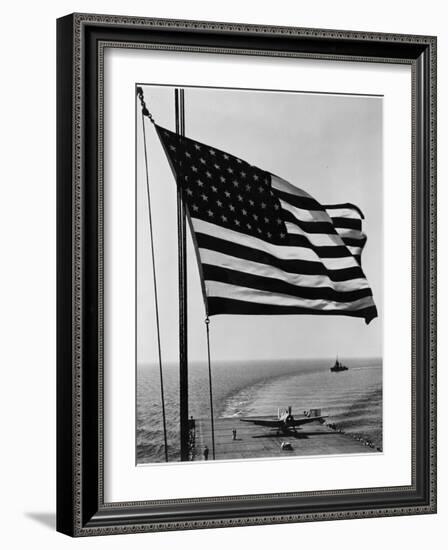
[[[185,95],[182,88],[174,90],[176,133],[185,135]],[[179,239],[179,404],[180,459],[189,459],[188,422],[188,333],[187,333],[187,246],[186,215],[181,186],[177,186],[177,231]]]

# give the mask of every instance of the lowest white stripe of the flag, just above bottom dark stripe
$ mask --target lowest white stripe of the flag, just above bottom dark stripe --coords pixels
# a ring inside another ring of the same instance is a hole
[[[360,298],[352,302],[335,302],[326,299],[306,299],[291,296],[288,294],[272,294],[270,291],[258,290],[237,286],[220,281],[205,281],[207,295],[211,297],[232,298],[234,300],[243,300],[247,302],[256,302],[259,304],[299,306],[307,309],[316,309],[321,311],[355,311],[371,307],[373,300],[371,296]]]

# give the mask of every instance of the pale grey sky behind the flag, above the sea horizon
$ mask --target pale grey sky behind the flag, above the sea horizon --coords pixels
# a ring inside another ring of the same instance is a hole
[[[174,89],[143,85],[157,124],[175,129]],[[136,117],[137,361],[157,361],[146,172]],[[146,122],[162,358],[178,361],[176,184]],[[288,180],[323,204],[351,202],[365,215],[362,264],[378,318],[279,315],[211,317],[212,361],[382,356],[382,98],[318,93],[185,89],[187,137]],[[205,311],[191,235],[187,241],[188,354],[206,361]]]

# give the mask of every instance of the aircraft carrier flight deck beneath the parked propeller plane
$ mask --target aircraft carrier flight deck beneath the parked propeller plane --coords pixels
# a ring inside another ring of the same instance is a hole
[[[236,440],[232,430],[236,429]],[[282,442],[288,442],[292,450],[282,450]],[[209,460],[213,459],[210,419],[196,419],[192,440],[191,459],[204,460],[204,447],[209,448]],[[381,449],[369,442],[356,439],[319,421],[305,424],[297,433],[276,434],[275,430],[240,422],[238,418],[215,418],[215,459],[278,458],[284,456],[332,455],[347,453],[374,453]]]

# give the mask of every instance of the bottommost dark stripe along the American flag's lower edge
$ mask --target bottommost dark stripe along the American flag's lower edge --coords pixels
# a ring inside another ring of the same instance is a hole
[[[308,309],[300,306],[283,306],[278,304],[259,304],[246,302],[231,298],[213,297],[208,298],[209,315],[230,314],[230,315],[334,315],[334,312],[321,309]],[[377,316],[375,306],[359,310],[339,310],[338,315],[349,317],[361,317],[370,322]]]

